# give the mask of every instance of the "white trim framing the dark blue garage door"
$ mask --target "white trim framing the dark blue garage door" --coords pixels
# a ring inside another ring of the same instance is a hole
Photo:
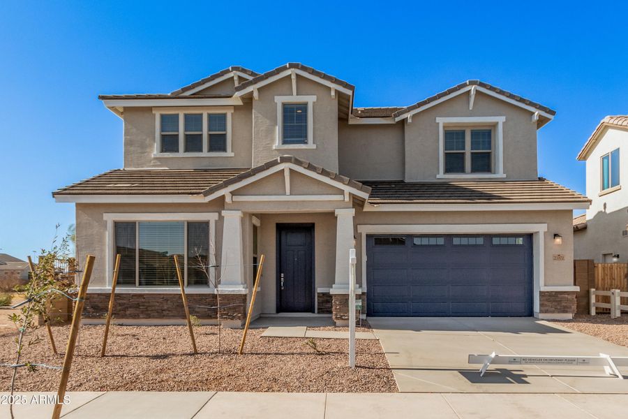
[[[362,290],[366,291],[366,235],[367,234],[506,234],[532,233],[532,271],[534,276],[534,315],[540,309],[539,291],[545,289],[545,233],[546,223],[538,224],[358,224],[361,246]]]

